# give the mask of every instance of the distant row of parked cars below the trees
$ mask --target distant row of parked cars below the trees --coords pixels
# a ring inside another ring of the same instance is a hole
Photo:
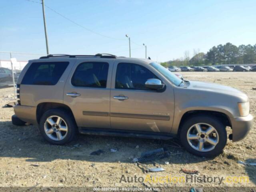
[[[223,71],[223,72],[231,72],[231,71],[256,71],[256,65],[254,66],[248,66],[248,65],[230,65],[230,66],[185,66],[185,67],[176,67],[176,66],[170,66],[168,68],[172,72],[180,72],[180,71],[209,71],[209,72],[215,72],[215,71]]]

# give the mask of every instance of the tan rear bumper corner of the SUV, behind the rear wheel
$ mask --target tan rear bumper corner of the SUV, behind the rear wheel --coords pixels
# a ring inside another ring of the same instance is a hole
[[[16,116],[28,123],[37,124],[36,121],[36,107],[16,105],[13,107]]]

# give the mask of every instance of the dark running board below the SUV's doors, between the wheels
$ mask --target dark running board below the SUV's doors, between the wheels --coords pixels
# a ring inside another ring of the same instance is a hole
[[[134,131],[134,130],[116,130],[116,129],[102,129],[102,128],[84,128],[79,127],[79,132],[88,135],[104,135],[104,136],[117,136],[117,137],[136,137],[146,139],[172,139],[173,135],[170,133]]]

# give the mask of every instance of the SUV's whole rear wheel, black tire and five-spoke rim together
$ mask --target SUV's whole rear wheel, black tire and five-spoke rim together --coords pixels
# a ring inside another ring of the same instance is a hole
[[[46,111],[40,119],[39,129],[50,143],[63,145],[74,140],[77,126],[70,112],[61,109]]]

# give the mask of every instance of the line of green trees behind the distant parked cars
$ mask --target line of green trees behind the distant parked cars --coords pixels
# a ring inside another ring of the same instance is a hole
[[[203,66],[217,64],[256,64],[256,44],[235,46],[231,43],[213,46],[205,54],[194,50],[193,57],[184,52],[184,57],[161,63],[163,66]]]

